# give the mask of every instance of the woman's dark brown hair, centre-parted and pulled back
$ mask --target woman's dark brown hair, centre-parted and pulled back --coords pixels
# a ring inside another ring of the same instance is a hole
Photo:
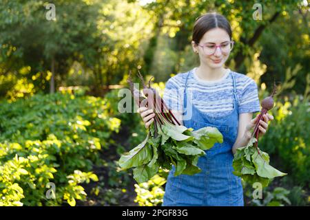
[[[203,38],[203,35],[213,28],[222,28],[227,32],[231,39],[231,27],[227,19],[216,12],[203,14],[198,17],[194,23],[192,40],[195,43],[199,43]]]

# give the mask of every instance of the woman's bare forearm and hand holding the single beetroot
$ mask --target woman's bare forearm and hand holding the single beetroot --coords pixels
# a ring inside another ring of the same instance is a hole
[[[258,115],[256,115],[254,119],[252,119],[253,113],[241,113],[239,115],[238,135],[232,148],[233,153],[236,153],[238,147],[247,146],[252,135],[251,129],[254,128]],[[263,120],[260,120],[260,126],[258,126],[258,129],[260,129],[260,136],[266,133],[269,120],[273,120],[273,116],[268,113],[263,116]]]

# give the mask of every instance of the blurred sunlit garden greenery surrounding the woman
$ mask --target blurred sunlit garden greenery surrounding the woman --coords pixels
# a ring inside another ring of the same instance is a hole
[[[161,206],[167,171],[136,184],[118,159],[144,140],[118,91],[138,70],[163,91],[198,66],[196,17],[216,11],[236,41],[227,67],[276,82],[260,148],[288,173],[245,206],[309,206],[310,8],[305,0],[0,0],[0,206]],[[138,82],[138,80],[136,80]]]

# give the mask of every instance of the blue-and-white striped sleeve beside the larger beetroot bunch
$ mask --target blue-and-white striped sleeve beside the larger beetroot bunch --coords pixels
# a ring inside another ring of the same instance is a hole
[[[182,99],[182,92],[180,89],[180,77],[172,77],[169,78],[165,85],[165,90],[163,94],[163,100],[169,107],[169,109],[182,111],[183,109],[183,99]]]

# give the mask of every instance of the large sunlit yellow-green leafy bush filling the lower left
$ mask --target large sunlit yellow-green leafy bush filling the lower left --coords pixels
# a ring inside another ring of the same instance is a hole
[[[85,199],[80,184],[98,181],[90,170],[101,162],[99,151],[114,142],[110,135],[120,124],[102,98],[38,94],[2,102],[0,206],[59,206],[64,201],[74,206],[76,199]],[[48,197],[49,183],[54,199]]]

